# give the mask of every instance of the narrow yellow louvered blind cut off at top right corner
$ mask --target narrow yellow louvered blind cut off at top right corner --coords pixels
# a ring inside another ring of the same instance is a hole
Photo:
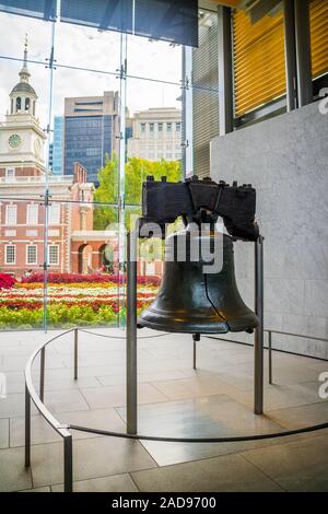
[[[328,72],[328,1],[311,2],[312,74],[315,79]]]

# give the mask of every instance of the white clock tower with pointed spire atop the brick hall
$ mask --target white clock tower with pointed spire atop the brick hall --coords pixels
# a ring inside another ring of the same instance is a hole
[[[37,94],[30,84],[27,38],[19,77],[19,83],[9,95],[9,114],[0,125],[0,175],[8,168],[14,171],[12,175],[15,176],[43,175],[46,173],[44,147],[47,136],[36,117]]]

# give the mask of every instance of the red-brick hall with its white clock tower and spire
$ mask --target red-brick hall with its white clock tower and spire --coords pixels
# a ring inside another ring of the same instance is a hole
[[[0,271],[19,278],[42,271],[45,262],[51,272],[97,271],[113,234],[93,231],[94,185],[80,163],[73,164],[71,175],[49,175],[46,170],[47,136],[37,118],[26,44],[19,75],[0,125]]]

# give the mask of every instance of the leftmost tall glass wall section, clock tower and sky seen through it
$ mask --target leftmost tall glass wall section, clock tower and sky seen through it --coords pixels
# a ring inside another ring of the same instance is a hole
[[[0,23],[0,273],[15,279],[0,285],[0,328],[45,329],[54,23],[3,13]]]

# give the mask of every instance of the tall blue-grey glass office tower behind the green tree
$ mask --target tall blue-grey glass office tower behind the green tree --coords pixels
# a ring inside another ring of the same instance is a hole
[[[119,151],[119,96],[105,91],[103,96],[65,98],[63,173],[72,173],[74,162],[87,170],[87,178],[97,185],[98,170],[106,154]]]

